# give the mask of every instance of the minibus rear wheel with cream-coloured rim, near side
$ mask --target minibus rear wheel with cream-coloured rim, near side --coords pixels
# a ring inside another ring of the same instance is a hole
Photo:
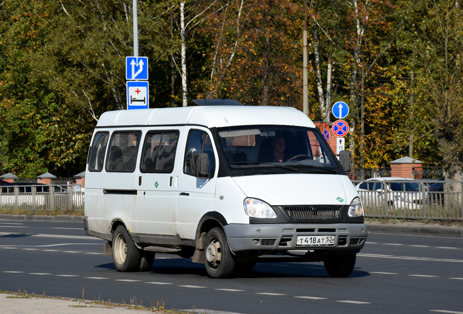
[[[113,234],[113,263],[118,271],[138,271],[140,251],[124,226],[118,226]]]

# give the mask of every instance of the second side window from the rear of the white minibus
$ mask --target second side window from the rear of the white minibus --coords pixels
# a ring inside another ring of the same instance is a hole
[[[141,131],[113,132],[106,157],[107,172],[134,172]]]

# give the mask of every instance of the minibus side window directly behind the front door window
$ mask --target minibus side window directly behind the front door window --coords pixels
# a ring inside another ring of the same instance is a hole
[[[147,133],[140,161],[141,172],[172,172],[179,131]]]

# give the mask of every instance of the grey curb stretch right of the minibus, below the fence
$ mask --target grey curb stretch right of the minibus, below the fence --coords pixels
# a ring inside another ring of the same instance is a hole
[[[367,223],[369,232],[383,234],[432,235],[438,237],[463,238],[463,227],[453,226],[407,226]]]

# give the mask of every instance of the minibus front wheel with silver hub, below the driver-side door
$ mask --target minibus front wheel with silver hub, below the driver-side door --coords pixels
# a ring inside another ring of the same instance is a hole
[[[235,261],[228,249],[224,232],[220,228],[212,228],[206,235],[204,248],[204,265],[209,277],[230,277],[235,268]]]

